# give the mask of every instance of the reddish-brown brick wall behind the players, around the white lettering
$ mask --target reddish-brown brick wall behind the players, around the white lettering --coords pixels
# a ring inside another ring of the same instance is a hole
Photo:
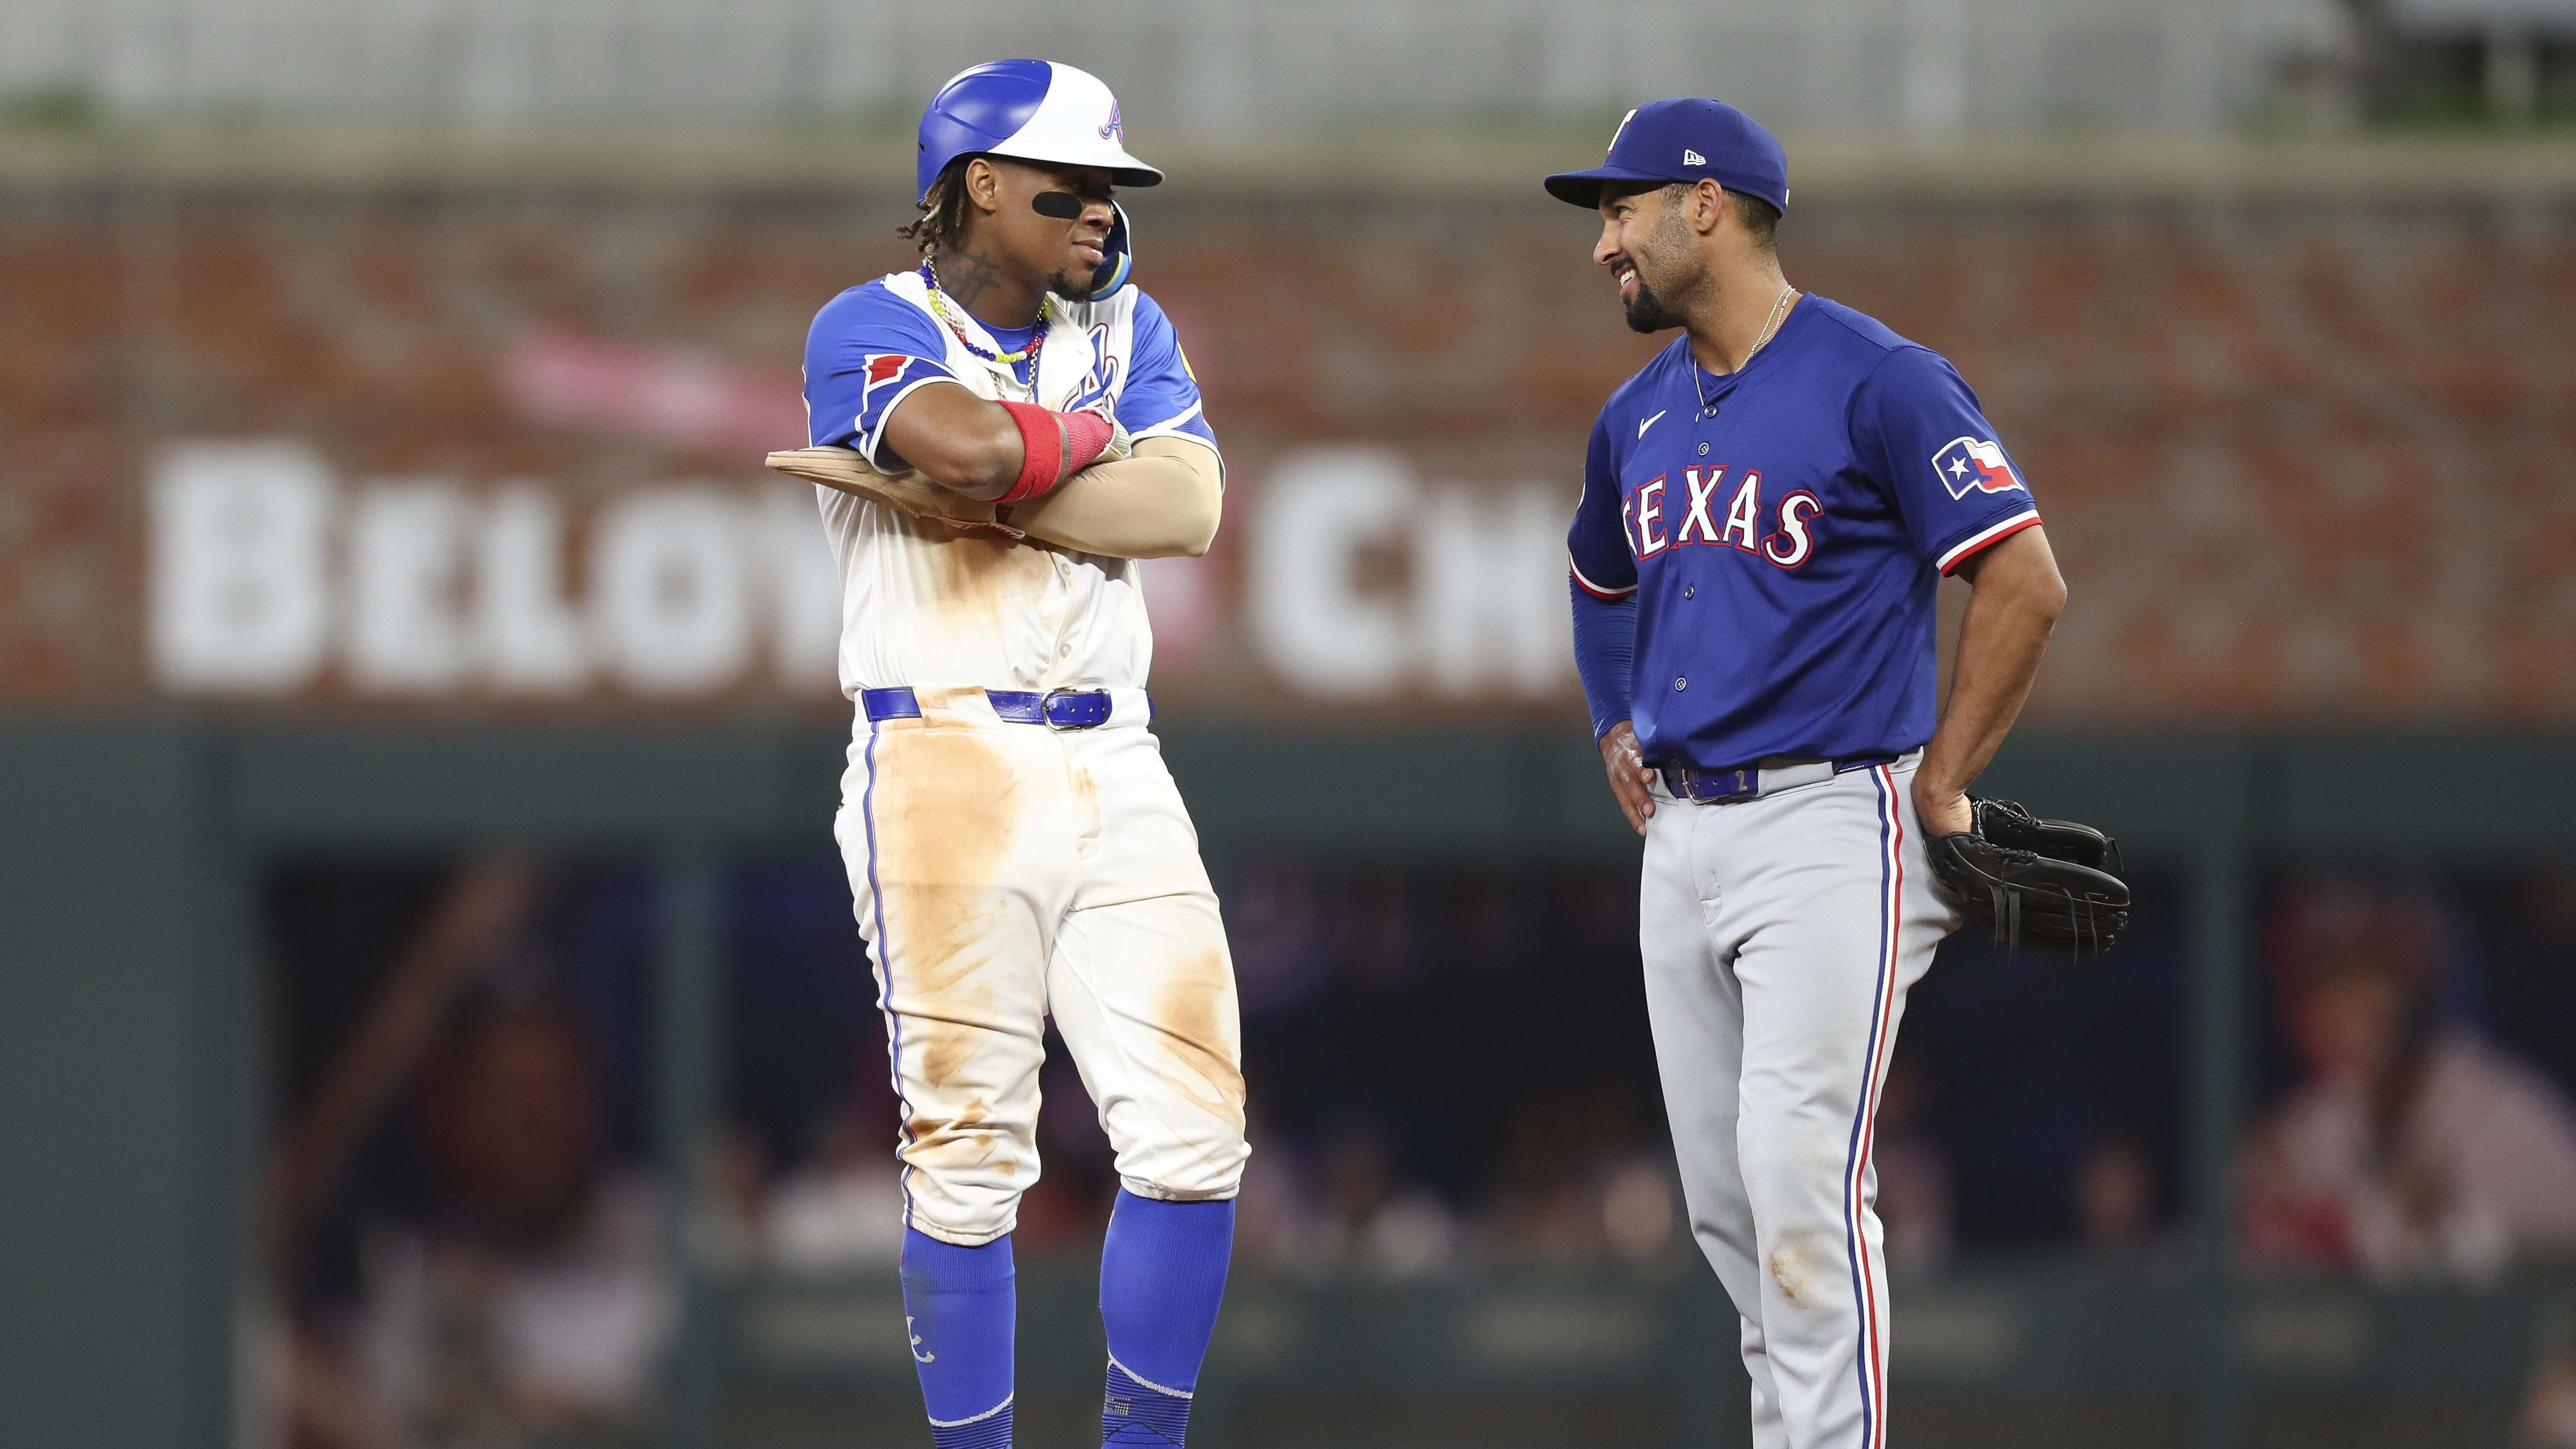
[[[1298,691],[1247,621],[1278,464],[1363,443],[1412,469],[1419,492],[1352,567],[1358,596],[1414,619],[1414,575],[1458,552],[1422,539],[1499,539],[1476,534],[1481,500],[1569,508],[1600,397],[1654,345],[1618,325],[1589,222],[1538,199],[1136,211],[1141,278],[1234,480],[1226,544],[1162,624],[1188,642],[1157,670],[1211,712]],[[626,343],[793,397],[806,320],[902,263],[896,219],[708,196],[0,193],[0,699],[165,694],[144,480],[173,441],[294,438],[348,482],[546,480],[577,511],[647,482],[770,487],[744,428],[698,446],[546,420],[502,364],[536,335]],[[1945,351],[2032,480],[2074,588],[2035,717],[2576,719],[2576,206],[1839,204],[1801,211],[1783,253],[1793,281]],[[1492,578],[1507,608],[1561,588],[1546,559],[1468,562],[1489,572],[1443,578]],[[1347,706],[1571,712],[1553,660],[1427,683],[1440,629],[1473,624],[1473,601],[1401,624],[1409,663]],[[366,691],[332,665],[289,699]],[[636,706],[605,676],[567,699]],[[832,694],[752,670],[675,704]]]

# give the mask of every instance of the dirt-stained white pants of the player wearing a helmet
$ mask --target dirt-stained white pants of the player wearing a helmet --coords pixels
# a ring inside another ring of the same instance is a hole
[[[1128,1191],[1234,1196],[1234,962],[1144,691],[1066,732],[1005,724],[974,688],[917,694],[920,719],[858,719],[832,830],[886,1011],[907,1222],[966,1248],[1012,1230],[1048,1013]]]

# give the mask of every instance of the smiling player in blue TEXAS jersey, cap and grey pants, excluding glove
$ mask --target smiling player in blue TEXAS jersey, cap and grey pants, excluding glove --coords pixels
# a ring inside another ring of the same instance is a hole
[[[1548,193],[1602,217],[1638,333],[1592,425],[1574,650],[1646,835],[1638,944],[1692,1235],[1744,1318],[1757,1449],[1880,1449],[1870,1127],[1906,987],[1960,920],[1927,835],[2012,727],[2066,603],[2040,513],[1929,348],[1806,297],[1788,157],[1656,101]],[[1935,722],[1935,585],[1973,585]]]

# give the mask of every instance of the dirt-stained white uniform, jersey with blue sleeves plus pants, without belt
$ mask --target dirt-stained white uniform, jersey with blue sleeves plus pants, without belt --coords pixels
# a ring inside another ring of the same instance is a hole
[[[1131,436],[1216,436],[1172,322],[1133,286],[1051,304],[1036,376],[1018,351],[894,273],[832,299],[806,340],[814,443],[881,467],[920,387],[1079,407]],[[958,335],[963,333],[963,338]],[[909,688],[855,719],[835,822],[902,1101],[904,1220],[945,1243],[1012,1230],[1038,1181],[1046,1021],[1064,1031],[1121,1183],[1234,1196],[1244,1165],[1234,962],[1198,833],[1146,724],[1154,655],[1136,565],[914,523],[822,492],[842,575],[840,686]],[[987,691],[1105,688],[1110,719],[1002,722]]]

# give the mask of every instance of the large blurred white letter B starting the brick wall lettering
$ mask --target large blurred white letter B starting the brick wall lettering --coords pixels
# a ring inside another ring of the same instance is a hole
[[[196,694],[299,688],[325,663],[332,480],[301,443],[183,443],[152,474],[152,673]]]

